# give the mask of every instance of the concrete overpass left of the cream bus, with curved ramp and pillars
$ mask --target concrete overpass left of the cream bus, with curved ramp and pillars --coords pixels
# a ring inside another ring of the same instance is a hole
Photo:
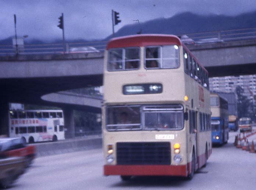
[[[59,91],[102,85],[102,60],[102,52],[0,57],[0,134],[8,133],[8,102],[17,102],[61,107],[74,136],[73,110],[100,113],[102,100]]]

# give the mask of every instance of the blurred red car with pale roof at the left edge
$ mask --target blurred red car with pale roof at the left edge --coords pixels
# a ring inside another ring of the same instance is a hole
[[[27,146],[22,138],[2,138],[0,147],[0,157],[26,157],[28,165],[36,156],[35,146]]]

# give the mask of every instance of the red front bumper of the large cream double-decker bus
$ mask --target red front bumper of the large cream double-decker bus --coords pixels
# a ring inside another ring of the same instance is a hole
[[[104,175],[188,176],[187,165],[104,165]]]

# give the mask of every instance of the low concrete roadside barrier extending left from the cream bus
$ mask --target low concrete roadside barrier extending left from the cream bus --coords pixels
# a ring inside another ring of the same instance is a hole
[[[67,139],[58,142],[35,143],[37,156],[49,156],[74,151],[99,149],[102,147],[102,137]]]

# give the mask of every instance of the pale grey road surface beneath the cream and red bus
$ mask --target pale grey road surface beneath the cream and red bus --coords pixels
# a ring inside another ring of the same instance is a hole
[[[207,166],[192,180],[171,177],[135,177],[129,182],[119,176],[103,176],[101,149],[36,158],[11,190],[255,190],[256,153],[235,148],[230,132],[228,144],[214,147]]]

